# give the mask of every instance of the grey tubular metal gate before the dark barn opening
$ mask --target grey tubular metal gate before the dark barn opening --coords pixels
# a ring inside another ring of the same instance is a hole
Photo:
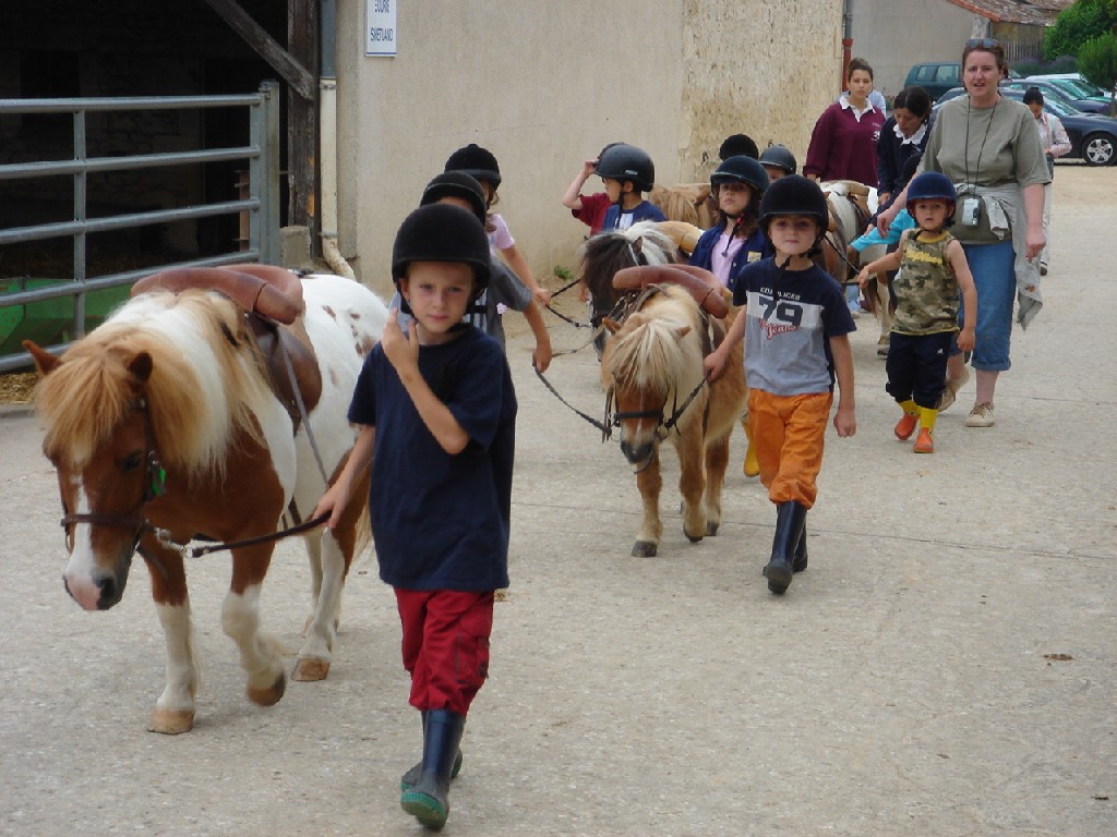
[[[128,110],[200,110],[220,107],[248,109],[248,145],[132,156],[93,158],[87,156],[87,114]],[[277,260],[279,249],[279,96],[276,83],[265,83],[258,93],[241,96],[0,99],[0,116],[47,113],[70,114],[73,116],[73,158],[0,165],[0,180],[73,176],[74,220],[0,230],[0,246],[71,238],[74,242],[74,276],[68,282],[0,294],[0,312],[4,308],[15,306],[74,297],[73,335],[80,337],[86,330],[86,297],[95,291],[131,286],[137,279],[169,267],[216,267],[248,261],[274,263]],[[236,160],[246,161],[248,169],[247,195],[240,200],[95,219],[87,217],[86,181],[89,174],[159,166],[201,165]],[[144,268],[143,270],[95,278],[87,277],[86,235],[89,233],[238,213],[247,213],[248,215],[248,241],[244,249],[208,258],[178,261],[173,264]],[[60,343],[48,348],[51,352],[61,352],[67,346],[67,343]],[[0,373],[27,367],[30,363],[31,357],[26,352],[0,355]]]

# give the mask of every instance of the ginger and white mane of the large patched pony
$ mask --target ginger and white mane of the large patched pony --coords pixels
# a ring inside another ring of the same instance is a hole
[[[242,334],[240,309],[216,294],[128,300],[39,382],[47,454],[83,468],[146,393],[163,462],[191,477],[222,474],[238,432],[261,441],[255,414],[274,400],[259,353]],[[143,353],[152,359],[146,384],[128,369]]]

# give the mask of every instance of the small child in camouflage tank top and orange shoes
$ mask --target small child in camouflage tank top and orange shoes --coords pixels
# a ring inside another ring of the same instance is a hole
[[[918,227],[905,230],[897,250],[867,264],[858,276],[866,288],[872,273],[886,276],[899,269],[892,281],[896,314],[885,388],[904,411],[894,429],[896,437],[905,442],[919,429],[916,453],[935,450],[935,420],[955,334],[960,349],[974,347],[977,289],[962,244],[946,231],[956,203],[957,192],[948,177],[938,172],[916,176],[907,187],[907,211]],[[961,331],[960,290],[965,310]]]

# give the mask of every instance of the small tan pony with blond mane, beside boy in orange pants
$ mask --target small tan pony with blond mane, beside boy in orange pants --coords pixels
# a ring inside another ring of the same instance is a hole
[[[637,269],[649,270],[655,269]],[[696,296],[701,295],[677,285],[650,285],[622,325],[607,320],[612,336],[601,358],[601,384],[607,403],[615,405],[611,421],[621,429],[621,451],[637,469],[643,501],[633,556],[655,556],[663,532],[661,442],[674,445],[679,456],[684,533],[699,541],[717,535],[722,523],[729,433],[745,408],[747,389],[741,343],[722,376],[705,383],[703,360],[736,316],[728,291],[716,287],[713,292],[722,304],[720,318],[699,306]]]

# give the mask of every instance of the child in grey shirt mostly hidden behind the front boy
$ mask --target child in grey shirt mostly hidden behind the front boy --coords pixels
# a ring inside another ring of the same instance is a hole
[[[487,201],[485,190],[477,180],[465,172],[445,172],[433,177],[422,191],[420,206],[431,203],[450,203],[469,210],[477,220],[485,223]],[[489,282],[485,291],[466,309],[466,321],[477,326],[485,334],[496,338],[503,348],[505,345],[504,323],[500,318],[500,307],[519,311],[531,326],[535,337],[535,350],[532,353],[532,364],[540,372],[546,372],[551,365],[553,352],[551,334],[543,321],[543,311],[532,292],[519,281],[507,264],[496,256],[491,256]],[[411,318],[411,309],[399,291],[392,297],[390,308],[395,308],[397,320],[401,329],[407,329]]]

